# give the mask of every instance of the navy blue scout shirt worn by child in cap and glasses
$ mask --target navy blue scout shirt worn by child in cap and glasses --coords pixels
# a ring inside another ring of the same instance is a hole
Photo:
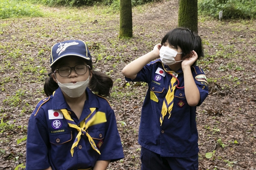
[[[38,103],[29,119],[26,170],[45,169],[49,166],[52,170],[82,169],[94,167],[98,160],[116,161],[124,157],[111,106],[106,99],[93,94],[88,88],[86,93],[87,100],[79,120],[67,105],[60,88],[54,95]],[[107,122],[87,129],[101,155],[93,150],[87,136],[81,135],[73,157],[71,156],[70,149],[78,131],[67,124],[60,111],[63,108],[67,109],[78,126],[91,113],[90,108],[105,113]]]

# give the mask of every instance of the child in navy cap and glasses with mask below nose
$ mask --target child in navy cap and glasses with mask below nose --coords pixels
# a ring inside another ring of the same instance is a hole
[[[108,101],[113,81],[93,71],[87,45],[52,46],[45,94],[29,118],[26,170],[105,170],[124,157]]]

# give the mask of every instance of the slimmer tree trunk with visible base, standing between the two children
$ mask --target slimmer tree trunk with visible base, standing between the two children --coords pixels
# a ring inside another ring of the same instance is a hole
[[[119,37],[132,37],[131,0],[120,0]]]

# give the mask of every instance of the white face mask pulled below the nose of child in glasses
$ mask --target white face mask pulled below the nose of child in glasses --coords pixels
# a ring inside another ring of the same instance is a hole
[[[57,78],[56,78],[57,79]],[[57,80],[58,81],[58,80]],[[58,81],[58,85],[67,96],[71,98],[80,97],[85,89],[87,88],[90,81],[90,77],[83,82],[76,82],[76,83],[61,83]]]

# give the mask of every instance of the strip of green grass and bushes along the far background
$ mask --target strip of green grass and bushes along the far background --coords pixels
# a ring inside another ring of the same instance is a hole
[[[131,0],[132,6],[150,3],[153,0]],[[40,7],[46,6],[111,6],[119,10],[120,0],[0,0],[0,19],[12,17],[42,17]],[[198,12],[218,19],[256,18],[256,0],[198,0]]]

